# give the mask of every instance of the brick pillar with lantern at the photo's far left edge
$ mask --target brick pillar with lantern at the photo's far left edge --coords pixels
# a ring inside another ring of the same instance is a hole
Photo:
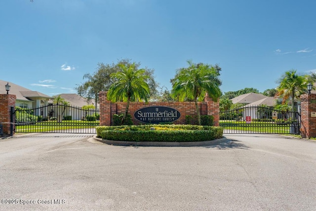
[[[2,123],[4,136],[10,135],[10,110],[11,106],[15,108],[15,101],[14,94],[0,94],[0,123]]]

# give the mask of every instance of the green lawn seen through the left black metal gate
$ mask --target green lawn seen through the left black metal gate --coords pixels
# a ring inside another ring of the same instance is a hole
[[[15,132],[48,132],[92,128],[96,126],[99,126],[99,121],[63,120],[61,123],[58,123],[57,121],[44,121],[35,124],[16,125]]]

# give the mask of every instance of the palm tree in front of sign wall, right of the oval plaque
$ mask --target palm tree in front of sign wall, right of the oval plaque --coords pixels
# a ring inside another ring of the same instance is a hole
[[[217,101],[221,96],[219,86],[222,82],[218,78],[220,68],[203,63],[187,62],[189,67],[179,69],[175,78],[171,80],[171,93],[180,101],[183,101],[185,98],[194,100],[197,110],[197,123],[201,125],[197,101],[202,101],[205,93],[208,93],[208,96],[214,101]]]

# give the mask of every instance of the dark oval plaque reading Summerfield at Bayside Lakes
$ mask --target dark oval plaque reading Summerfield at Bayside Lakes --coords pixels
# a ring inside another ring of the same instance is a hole
[[[134,118],[142,123],[170,123],[178,120],[181,114],[178,110],[165,106],[150,106],[138,109]]]

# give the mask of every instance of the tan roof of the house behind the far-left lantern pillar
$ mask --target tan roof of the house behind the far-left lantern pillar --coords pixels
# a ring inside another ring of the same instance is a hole
[[[3,87],[3,88],[0,88],[0,94],[6,94],[6,90],[5,90],[4,86],[7,83],[9,83],[9,85],[11,86],[9,94],[16,95],[17,100],[33,101],[33,100],[29,99],[32,97],[40,97],[40,98],[46,98],[46,99],[51,98],[50,96],[43,94],[43,93],[40,93],[39,91],[32,91],[32,90],[25,88],[23,86],[13,84],[13,83],[7,82],[7,81],[2,81],[2,80],[0,80],[0,87]]]

